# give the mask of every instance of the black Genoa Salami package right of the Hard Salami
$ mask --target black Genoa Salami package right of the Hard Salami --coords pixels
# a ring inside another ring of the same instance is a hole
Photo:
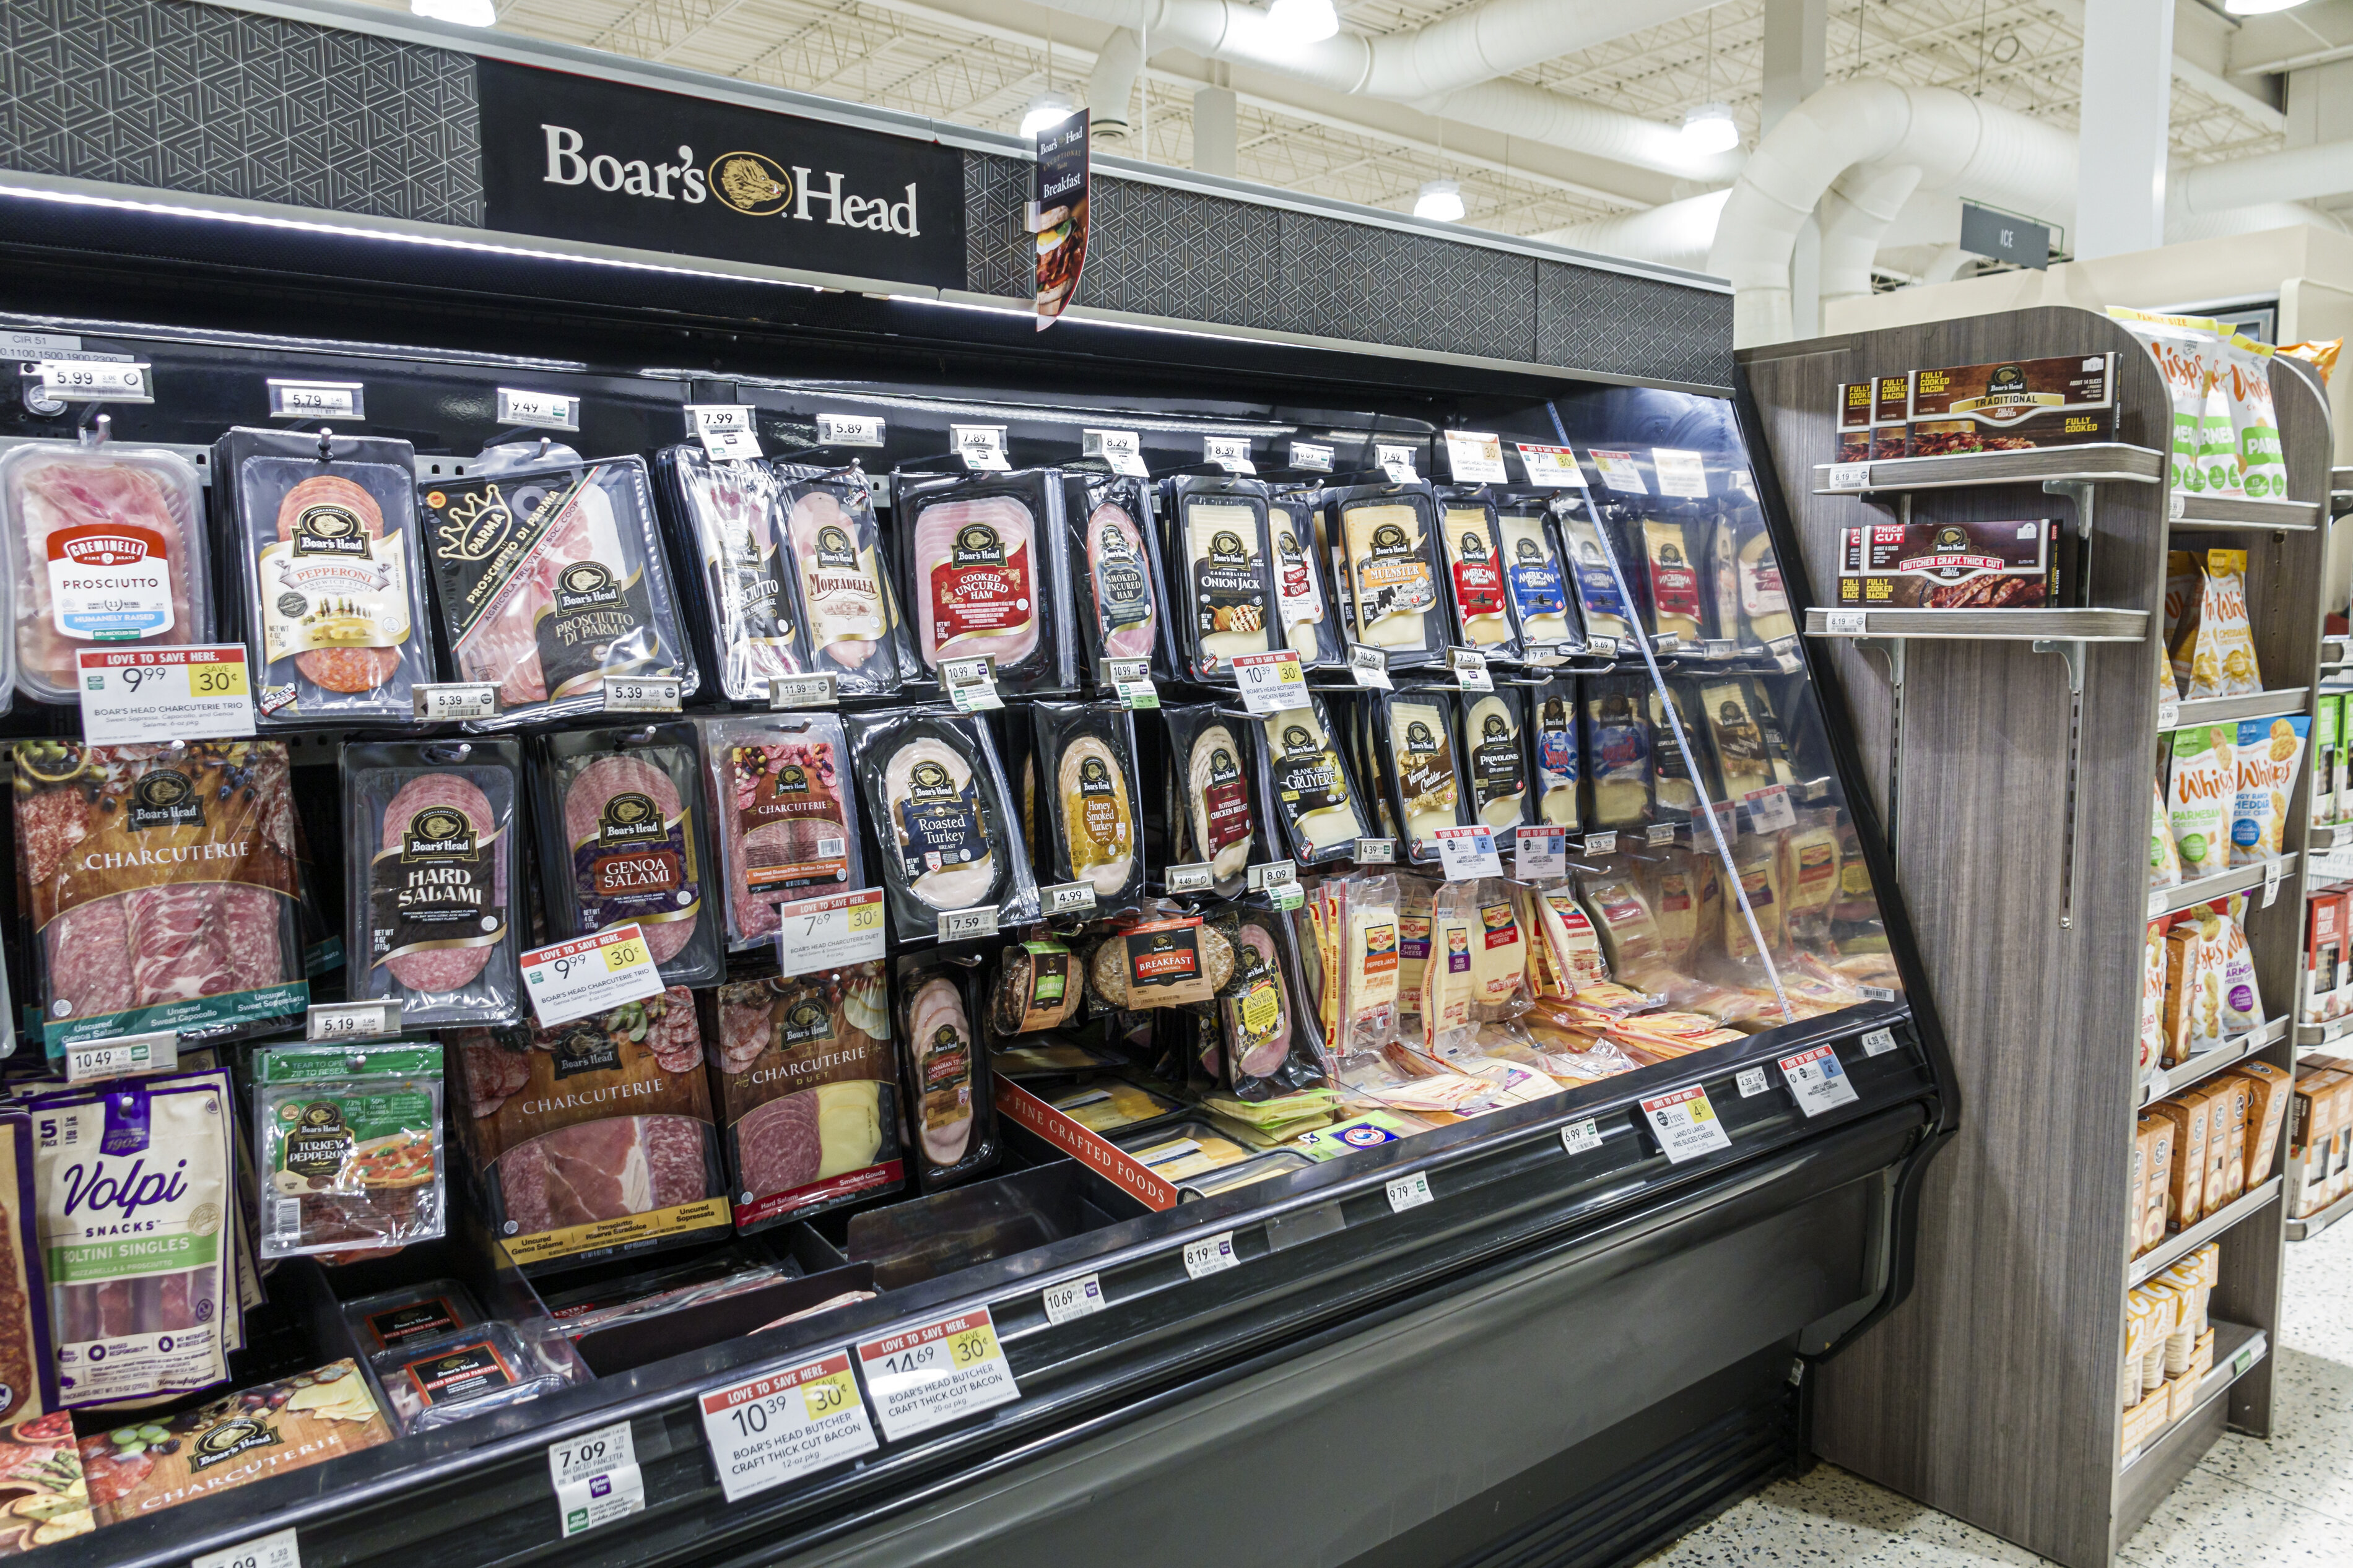
[[[534,736],[539,896],[548,940],[635,924],[664,985],[720,978],[711,844],[692,724]]]

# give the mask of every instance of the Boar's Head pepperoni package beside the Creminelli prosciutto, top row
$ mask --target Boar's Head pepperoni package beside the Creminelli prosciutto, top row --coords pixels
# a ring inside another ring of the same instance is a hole
[[[238,428],[214,442],[238,583],[224,599],[242,616],[264,729],[414,724],[412,691],[435,677],[414,461],[407,442],[351,435]]]

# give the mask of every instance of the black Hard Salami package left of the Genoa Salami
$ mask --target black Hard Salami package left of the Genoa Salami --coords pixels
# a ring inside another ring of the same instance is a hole
[[[522,1018],[522,748],[369,741],[344,748],[344,961],[353,1001],[405,1027]]]

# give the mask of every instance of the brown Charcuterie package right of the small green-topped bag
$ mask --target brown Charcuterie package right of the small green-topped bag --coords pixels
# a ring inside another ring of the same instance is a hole
[[[520,1267],[581,1265],[727,1232],[694,997],[553,1030],[459,1030],[461,1140],[489,1232]]]

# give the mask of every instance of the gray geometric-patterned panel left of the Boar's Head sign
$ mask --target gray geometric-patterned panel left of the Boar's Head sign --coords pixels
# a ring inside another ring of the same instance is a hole
[[[0,0],[0,165],[482,223],[471,56],[181,0]]]

